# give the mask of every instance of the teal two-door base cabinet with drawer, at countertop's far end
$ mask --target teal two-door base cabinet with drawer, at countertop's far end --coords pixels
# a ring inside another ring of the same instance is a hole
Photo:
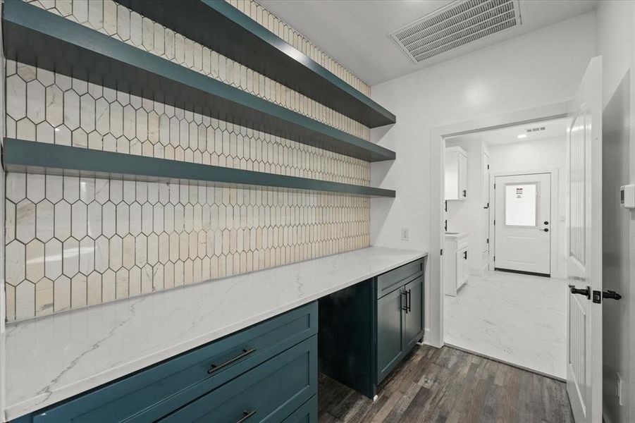
[[[369,398],[424,336],[424,259],[319,300],[319,369]]]

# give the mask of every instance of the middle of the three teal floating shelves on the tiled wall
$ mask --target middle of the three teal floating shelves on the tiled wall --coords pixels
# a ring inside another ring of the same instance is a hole
[[[148,3],[154,4],[154,1]],[[190,2],[174,3],[187,8]],[[357,159],[395,159],[395,152],[389,149],[137,49],[25,1],[4,2],[3,24],[7,59],[156,99]]]

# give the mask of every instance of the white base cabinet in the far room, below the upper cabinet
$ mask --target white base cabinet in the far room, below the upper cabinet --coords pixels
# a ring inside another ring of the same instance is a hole
[[[452,297],[467,283],[469,277],[467,232],[445,233],[443,248],[443,280],[444,293]]]

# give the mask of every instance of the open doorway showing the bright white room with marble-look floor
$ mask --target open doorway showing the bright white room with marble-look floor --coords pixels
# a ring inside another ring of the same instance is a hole
[[[445,138],[445,344],[567,375],[567,118]],[[539,311],[539,312],[538,312]]]

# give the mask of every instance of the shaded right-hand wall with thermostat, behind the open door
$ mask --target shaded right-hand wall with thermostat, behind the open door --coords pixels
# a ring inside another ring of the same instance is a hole
[[[607,423],[635,420],[635,212],[617,207],[617,187],[635,180],[635,3],[602,1],[597,51],[603,56],[603,285],[622,300],[603,305],[603,411]],[[623,378],[623,405],[615,396]]]

